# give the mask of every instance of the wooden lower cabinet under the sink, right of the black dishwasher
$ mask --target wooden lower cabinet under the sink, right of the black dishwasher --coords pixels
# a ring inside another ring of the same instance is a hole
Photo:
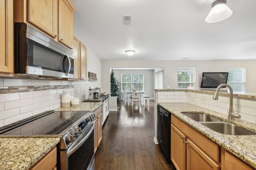
[[[174,115],[171,122],[171,160],[177,170],[253,169]]]

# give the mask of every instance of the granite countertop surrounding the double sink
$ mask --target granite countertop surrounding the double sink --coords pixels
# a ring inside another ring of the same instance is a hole
[[[256,168],[256,135],[224,135],[209,129],[208,127],[200,124],[197,121],[187,117],[181,112],[193,113],[200,112],[212,115],[214,117],[220,118],[224,121],[230,122],[232,124],[244,127],[245,129],[256,132],[256,124],[244,121],[241,119],[230,120],[227,119],[227,115],[218,113],[205,109],[203,107],[195,106],[188,103],[158,103],[160,106],[164,107],[170,111],[173,115],[204,134],[206,137],[210,138],[212,141],[218,145],[224,147],[226,150],[235,154],[254,168]]]

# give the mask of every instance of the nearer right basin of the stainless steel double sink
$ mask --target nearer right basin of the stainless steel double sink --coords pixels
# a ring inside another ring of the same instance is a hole
[[[202,125],[225,135],[256,135],[256,133],[228,122],[201,122]]]

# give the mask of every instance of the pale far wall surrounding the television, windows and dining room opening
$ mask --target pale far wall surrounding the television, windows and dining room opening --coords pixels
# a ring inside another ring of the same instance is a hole
[[[102,88],[110,92],[110,68],[164,68],[164,88],[177,88],[177,67],[196,67],[196,88],[200,87],[202,72],[226,72],[228,66],[246,67],[246,91],[256,92],[256,61],[255,60],[216,60],[216,61],[125,61],[103,60],[102,61]]]

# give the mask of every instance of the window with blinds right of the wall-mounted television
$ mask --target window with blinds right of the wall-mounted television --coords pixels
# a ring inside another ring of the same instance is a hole
[[[245,92],[246,68],[228,67],[228,84],[235,92]]]

